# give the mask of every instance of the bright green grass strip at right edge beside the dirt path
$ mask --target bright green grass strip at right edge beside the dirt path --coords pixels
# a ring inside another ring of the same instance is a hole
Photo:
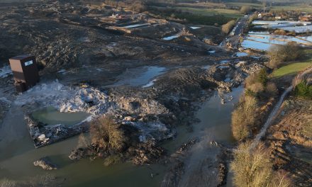
[[[311,67],[312,62],[296,62],[292,64],[288,64],[284,67],[280,67],[279,69],[275,69],[272,73],[272,77],[279,78],[285,75],[296,74],[297,72],[306,69],[307,67]]]

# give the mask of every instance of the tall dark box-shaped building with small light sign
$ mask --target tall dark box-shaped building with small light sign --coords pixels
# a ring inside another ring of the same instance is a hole
[[[16,91],[23,92],[37,84],[39,74],[34,56],[21,55],[12,57],[9,61],[15,80]]]

